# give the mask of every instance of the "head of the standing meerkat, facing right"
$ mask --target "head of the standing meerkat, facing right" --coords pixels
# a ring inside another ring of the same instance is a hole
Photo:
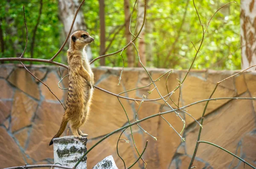
[[[94,38],[86,31],[76,31],[70,36],[70,47],[76,50],[83,50]]]

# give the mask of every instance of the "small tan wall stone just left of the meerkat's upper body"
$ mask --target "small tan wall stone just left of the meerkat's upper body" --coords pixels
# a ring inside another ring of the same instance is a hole
[[[58,99],[61,100],[64,95],[64,91],[58,87],[58,82],[60,81],[60,78],[55,72],[48,73],[46,78],[47,79],[44,80],[44,83],[52,90],[52,92],[58,97]],[[46,100],[58,101],[45,85],[41,85],[40,89],[42,95]]]

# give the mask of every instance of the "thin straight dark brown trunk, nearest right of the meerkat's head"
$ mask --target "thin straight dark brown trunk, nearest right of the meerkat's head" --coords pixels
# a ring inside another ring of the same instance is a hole
[[[105,34],[105,3],[99,0],[99,23],[100,23],[100,51],[99,55],[105,55],[106,34]],[[105,66],[105,57],[100,59],[100,65]]]

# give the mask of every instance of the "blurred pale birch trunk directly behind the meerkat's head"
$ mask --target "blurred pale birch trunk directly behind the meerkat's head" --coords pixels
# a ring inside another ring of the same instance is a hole
[[[79,4],[80,0],[58,0],[59,17],[64,25],[64,33],[66,36],[70,30],[73,18],[75,16],[77,8],[79,7]],[[76,16],[76,21],[74,23],[71,33],[79,30],[86,31],[84,15],[81,9]],[[92,60],[92,51],[90,45],[87,45],[86,53],[87,58],[89,60]]]

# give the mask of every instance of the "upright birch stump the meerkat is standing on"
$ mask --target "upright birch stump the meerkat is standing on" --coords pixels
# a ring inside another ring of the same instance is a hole
[[[73,167],[81,156],[87,152],[87,137],[82,139],[74,136],[65,136],[53,139],[54,163]],[[87,156],[79,163],[76,169],[87,169]]]

